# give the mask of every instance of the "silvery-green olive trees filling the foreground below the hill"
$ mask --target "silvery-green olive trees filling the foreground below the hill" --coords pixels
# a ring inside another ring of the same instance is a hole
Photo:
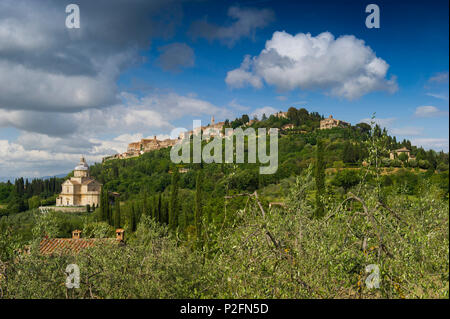
[[[359,196],[328,201],[319,219],[308,199],[310,171],[291,187],[286,209],[260,208],[249,196],[227,217],[228,227],[204,216],[203,248],[149,216],[126,246],[74,256],[15,254],[13,238],[2,231],[2,297],[448,298],[449,207],[435,189],[424,184],[422,197],[395,194],[380,203],[372,187],[360,185]],[[37,227],[56,232],[55,219],[38,217]],[[71,263],[80,267],[80,289],[62,284]],[[380,271],[379,289],[365,284],[368,265]]]

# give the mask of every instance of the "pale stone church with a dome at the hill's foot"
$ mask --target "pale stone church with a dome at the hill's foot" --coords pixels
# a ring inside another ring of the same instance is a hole
[[[56,206],[98,206],[102,184],[89,176],[89,166],[84,157],[74,169],[74,176],[62,184]]]

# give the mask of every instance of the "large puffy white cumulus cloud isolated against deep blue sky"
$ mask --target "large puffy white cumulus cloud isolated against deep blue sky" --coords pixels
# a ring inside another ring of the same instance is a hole
[[[240,68],[229,71],[225,82],[232,88],[261,88],[264,81],[282,91],[322,90],[355,99],[373,91],[395,92],[396,79],[387,78],[388,69],[352,35],[336,39],[329,32],[314,37],[277,31],[258,56],[246,56]]]

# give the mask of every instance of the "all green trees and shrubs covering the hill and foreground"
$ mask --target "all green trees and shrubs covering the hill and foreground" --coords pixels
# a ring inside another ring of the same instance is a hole
[[[93,165],[104,189],[92,213],[8,211],[0,219],[1,296],[448,298],[448,154],[365,123],[317,130],[320,119],[291,108],[288,118],[252,124],[295,125],[280,133],[273,175],[258,174],[259,163],[185,164],[181,173],[162,149]],[[389,151],[402,146],[416,163],[391,165]],[[113,237],[119,227],[124,246],[38,252],[43,236],[82,229],[83,237]],[[80,289],[62,284],[71,263]],[[368,266],[379,270],[378,289],[365,283]]]

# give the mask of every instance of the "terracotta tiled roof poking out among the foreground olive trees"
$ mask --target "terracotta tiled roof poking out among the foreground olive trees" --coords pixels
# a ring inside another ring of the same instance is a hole
[[[82,249],[98,244],[117,244],[119,242],[115,238],[44,238],[39,244],[39,252],[43,255],[76,254]]]

